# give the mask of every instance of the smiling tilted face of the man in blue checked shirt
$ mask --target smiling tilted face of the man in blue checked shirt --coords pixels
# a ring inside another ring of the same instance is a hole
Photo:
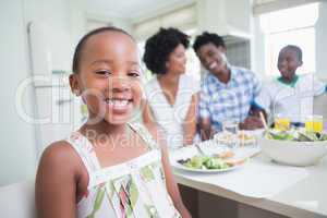
[[[218,75],[226,69],[225,52],[226,49],[223,47],[217,47],[209,43],[199,47],[196,56],[206,70]]]

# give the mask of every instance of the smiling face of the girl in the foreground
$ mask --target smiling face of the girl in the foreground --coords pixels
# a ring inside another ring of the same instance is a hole
[[[117,31],[90,36],[81,52],[80,72],[71,78],[82,90],[89,118],[122,124],[141,102],[141,68],[133,39]]]

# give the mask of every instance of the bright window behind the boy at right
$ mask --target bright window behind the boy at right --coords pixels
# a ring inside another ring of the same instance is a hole
[[[303,65],[299,74],[316,71],[315,23],[318,19],[318,3],[301,5],[262,14],[261,26],[265,33],[265,72],[279,75],[277,59],[280,49],[296,45],[303,52]]]

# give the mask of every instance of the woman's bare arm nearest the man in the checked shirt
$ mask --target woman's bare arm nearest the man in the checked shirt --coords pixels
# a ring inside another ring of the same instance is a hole
[[[191,105],[189,107],[184,123],[184,145],[193,144],[194,136],[196,134],[196,111],[197,111],[197,101],[198,101],[198,94],[193,94],[191,99]]]

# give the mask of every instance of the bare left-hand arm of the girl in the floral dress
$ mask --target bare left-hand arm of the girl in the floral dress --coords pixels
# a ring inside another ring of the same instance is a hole
[[[76,217],[76,158],[72,149],[58,142],[43,154],[35,183],[38,218]]]

